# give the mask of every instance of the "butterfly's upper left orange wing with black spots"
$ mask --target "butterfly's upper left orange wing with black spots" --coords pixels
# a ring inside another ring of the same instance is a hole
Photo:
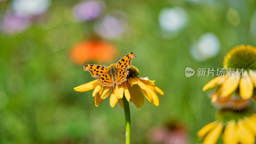
[[[100,65],[84,65],[84,72],[89,71],[93,77],[97,77],[102,74],[108,74],[109,68]]]

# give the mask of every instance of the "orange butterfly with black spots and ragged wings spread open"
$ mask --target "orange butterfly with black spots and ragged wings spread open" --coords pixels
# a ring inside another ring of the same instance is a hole
[[[116,64],[110,65],[110,68],[101,65],[84,65],[84,72],[89,71],[92,77],[98,77],[97,80],[102,86],[114,87],[115,84],[117,86],[127,80],[132,58],[136,58],[134,52],[128,53]]]

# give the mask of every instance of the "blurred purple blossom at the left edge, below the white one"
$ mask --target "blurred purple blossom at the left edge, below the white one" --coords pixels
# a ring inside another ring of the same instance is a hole
[[[25,30],[29,25],[28,17],[7,12],[0,23],[0,28],[6,34],[15,34]]]

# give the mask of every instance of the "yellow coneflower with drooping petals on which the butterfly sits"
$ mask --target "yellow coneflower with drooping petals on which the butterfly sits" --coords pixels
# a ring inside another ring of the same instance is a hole
[[[141,107],[144,103],[144,97],[154,105],[159,105],[159,100],[156,93],[164,94],[157,86],[155,86],[152,80],[148,77],[138,77],[140,71],[138,68],[132,66],[129,68],[129,75],[127,75],[127,81],[124,81],[118,86],[103,86],[97,80],[91,81],[86,84],[79,85],[74,88],[77,92],[86,92],[93,90],[92,96],[95,99],[95,106],[98,107],[103,99],[107,98],[110,94],[110,106],[113,108],[119,101],[122,106],[123,95],[127,101],[132,101],[136,107]],[[112,91],[111,91],[112,90]]]

